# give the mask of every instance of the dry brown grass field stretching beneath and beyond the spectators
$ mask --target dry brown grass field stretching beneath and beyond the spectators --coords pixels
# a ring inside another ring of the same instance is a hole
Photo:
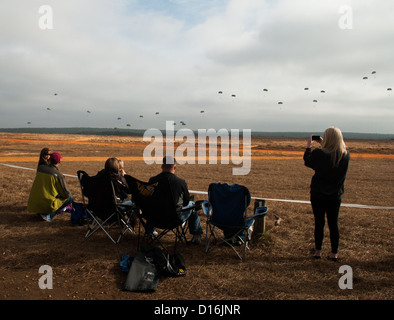
[[[394,141],[346,141],[351,153],[343,203],[393,207]],[[256,138],[248,175],[232,175],[233,164],[179,165],[177,175],[191,190],[211,182],[246,185],[253,197],[309,200],[313,171],[303,165],[306,139]],[[0,133],[0,163],[35,169],[43,147],[63,155],[60,170],[96,174],[108,157],[125,160],[126,172],[147,180],[159,165],[142,159],[141,138]],[[230,249],[206,255],[201,246],[181,245],[187,275],[163,278],[154,293],[123,291],[122,253],[136,253],[137,237],[126,234],[114,245],[103,233],[88,240],[86,226],[72,226],[69,214],[44,222],[26,211],[34,170],[0,165],[0,299],[133,300],[392,300],[394,298],[393,210],[342,207],[340,261],[313,260],[313,214],[309,204],[267,201],[266,234],[254,239],[247,261]],[[81,202],[76,178],[66,177]],[[204,195],[196,194],[196,199]],[[253,202],[250,209],[253,208]],[[275,225],[275,215],[282,222]],[[205,218],[200,216],[205,232]],[[323,257],[329,253],[328,229]],[[41,290],[38,270],[53,269],[53,289]],[[353,289],[342,290],[341,265],[353,270]]]

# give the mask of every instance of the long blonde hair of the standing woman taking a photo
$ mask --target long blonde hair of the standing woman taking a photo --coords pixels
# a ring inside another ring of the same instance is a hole
[[[346,145],[341,130],[336,127],[327,128],[324,131],[322,149],[331,154],[332,166],[338,167],[342,157],[346,154]]]

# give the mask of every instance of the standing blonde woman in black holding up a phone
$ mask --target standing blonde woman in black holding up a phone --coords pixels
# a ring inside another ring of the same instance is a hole
[[[321,148],[311,150],[316,141]],[[338,214],[341,206],[344,182],[349,166],[349,152],[343,141],[342,132],[330,127],[324,132],[323,138],[308,139],[304,153],[304,163],[315,171],[311,182],[311,203],[315,216],[315,253],[316,259],[321,258],[324,237],[325,215],[330,230],[331,254],[329,260],[338,260]]]

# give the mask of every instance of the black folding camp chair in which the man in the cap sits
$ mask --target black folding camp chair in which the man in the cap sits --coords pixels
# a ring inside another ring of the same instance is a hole
[[[144,240],[149,243],[158,242],[167,253],[169,253],[169,249],[162,240],[167,233],[173,233],[175,235],[173,253],[175,254],[178,241],[187,243],[188,223],[187,220],[183,222],[179,219],[179,212],[176,210],[168,180],[162,179],[155,183],[148,183],[128,175],[125,178],[132,194],[132,201],[139,209],[137,214],[140,221],[138,246],[140,245],[142,225],[145,229]],[[193,205],[184,210],[196,210],[196,208],[197,206]],[[146,232],[148,224],[149,228],[160,229],[160,232],[157,235],[148,234]]]

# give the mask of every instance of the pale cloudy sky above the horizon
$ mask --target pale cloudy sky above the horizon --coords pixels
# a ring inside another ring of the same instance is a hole
[[[0,128],[394,133],[393,15],[391,0],[0,0]]]

